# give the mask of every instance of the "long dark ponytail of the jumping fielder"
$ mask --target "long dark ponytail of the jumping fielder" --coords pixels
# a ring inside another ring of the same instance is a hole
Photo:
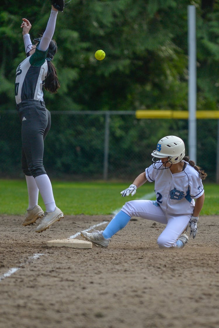
[[[56,52],[56,42],[55,40],[51,40],[46,58],[48,64],[48,73],[44,83],[44,89],[50,93],[56,93],[57,90],[60,88],[60,83],[57,77],[55,66],[51,63]]]

